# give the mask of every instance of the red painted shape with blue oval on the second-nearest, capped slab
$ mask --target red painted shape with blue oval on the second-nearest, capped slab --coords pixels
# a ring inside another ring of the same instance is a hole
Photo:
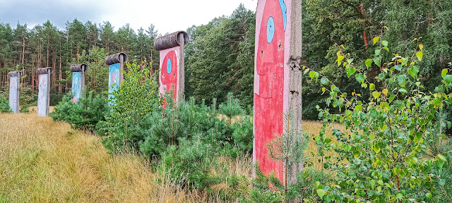
[[[166,85],[166,92],[173,91],[173,99],[176,101],[177,95],[177,56],[175,51],[169,51],[163,60],[162,67],[160,67],[160,81],[163,85]],[[166,108],[167,104],[164,99],[163,108]]]

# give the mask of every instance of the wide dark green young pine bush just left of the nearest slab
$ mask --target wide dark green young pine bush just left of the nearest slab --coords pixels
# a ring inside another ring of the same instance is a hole
[[[141,152],[150,159],[159,158],[159,167],[170,171],[172,178],[187,177],[192,187],[205,189],[220,183],[223,179],[210,176],[208,168],[218,164],[216,159],[220,156],[235,158],[251,152],[251,118],[245,116],[242,125],[231,125],[229,118],[219,118],[215,102],[212,106],[198,106],[191,98],[174,106],[171,97],[167,98],[167,108],[159,107],[137,130],[138,137],[144,138]]]

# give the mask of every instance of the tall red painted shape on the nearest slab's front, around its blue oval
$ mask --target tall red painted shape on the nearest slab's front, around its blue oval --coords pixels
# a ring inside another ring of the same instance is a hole
[[[270,17],[274,21],[273,37],[268,37],[272,35],[268,33]],[[268,43],[268,38],[273,40]],[[283,133],[284,44],[285,29],[280,2],[267,0],[256,56],[259,82],[258,94],[254,94],[255,156],[264,174],[274,172],[275,177],[280,180],[283,180],[283,164],[281,161],[270,159],[266,143]]]

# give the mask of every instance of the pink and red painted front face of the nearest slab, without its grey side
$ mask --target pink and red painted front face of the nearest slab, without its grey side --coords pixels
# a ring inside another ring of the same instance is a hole
[[[259,0],[256,10],[253,160],[283,180],[283,163],[270,159],[266,143],[283,133],[289,104],[290,0]]]

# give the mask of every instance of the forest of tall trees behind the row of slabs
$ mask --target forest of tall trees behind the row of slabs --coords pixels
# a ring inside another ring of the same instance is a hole
[[[373,53],[368,49],[374,37],[384,32],[391,49],[400,55],[417,47],[413,39],[424,45],[420,69],[427,90],[441,83],[441,70],[452,61],[452,2],[451,1],[365,1],[365,0],[307,0],[303,1],[303,59],[302,65],[330,78],[341,90],[364,91],[353,78],[345,77],[345,70],[334,64],[338,47],[353,58]],[[1,20],[1,19],[0,19]],[[186,46],[186,98],[205,99],[211,104],[227,99],[232,92],[244,108],[251,112],[254,84],[254,44],[256,14],[240,5],[231,16],[221,16],[207,25],[189,27],[190,43]],[[152,20],[150,20],[152,23]],[[382,29],[382,27],[388,29]],[[69,67],[73,63],[88,63],[88,91],[107,90],[106,55],[124,51],[129,60],[155,61],[149,68],[158,70],[159,53],[153,44],[158,27],[133,30],[124,25],[115,30],[111,23],[81,22],[74,19],[66,27],[56,27],[49,20],[42,25],[10,25],[0,23],[0,94],[8,92],[8,71],[23,70],[22,95],[26,104],[37,97],[37,75],[40,67],[52,67],[52,105],[71,91]],[[177,28],[175,28],[177,29]],[[174,30],[176,31],[176,30]],[[391,59],[394,56],[386,54]],[[359,64],[359,66],[365,66]],[[381,73],[381,67],[371,66],[368,78]],[[321,107],[321,88],[314,82],[304,82],[304,119],[317,119]],[[5,95],[6,96],[6,95]]]

